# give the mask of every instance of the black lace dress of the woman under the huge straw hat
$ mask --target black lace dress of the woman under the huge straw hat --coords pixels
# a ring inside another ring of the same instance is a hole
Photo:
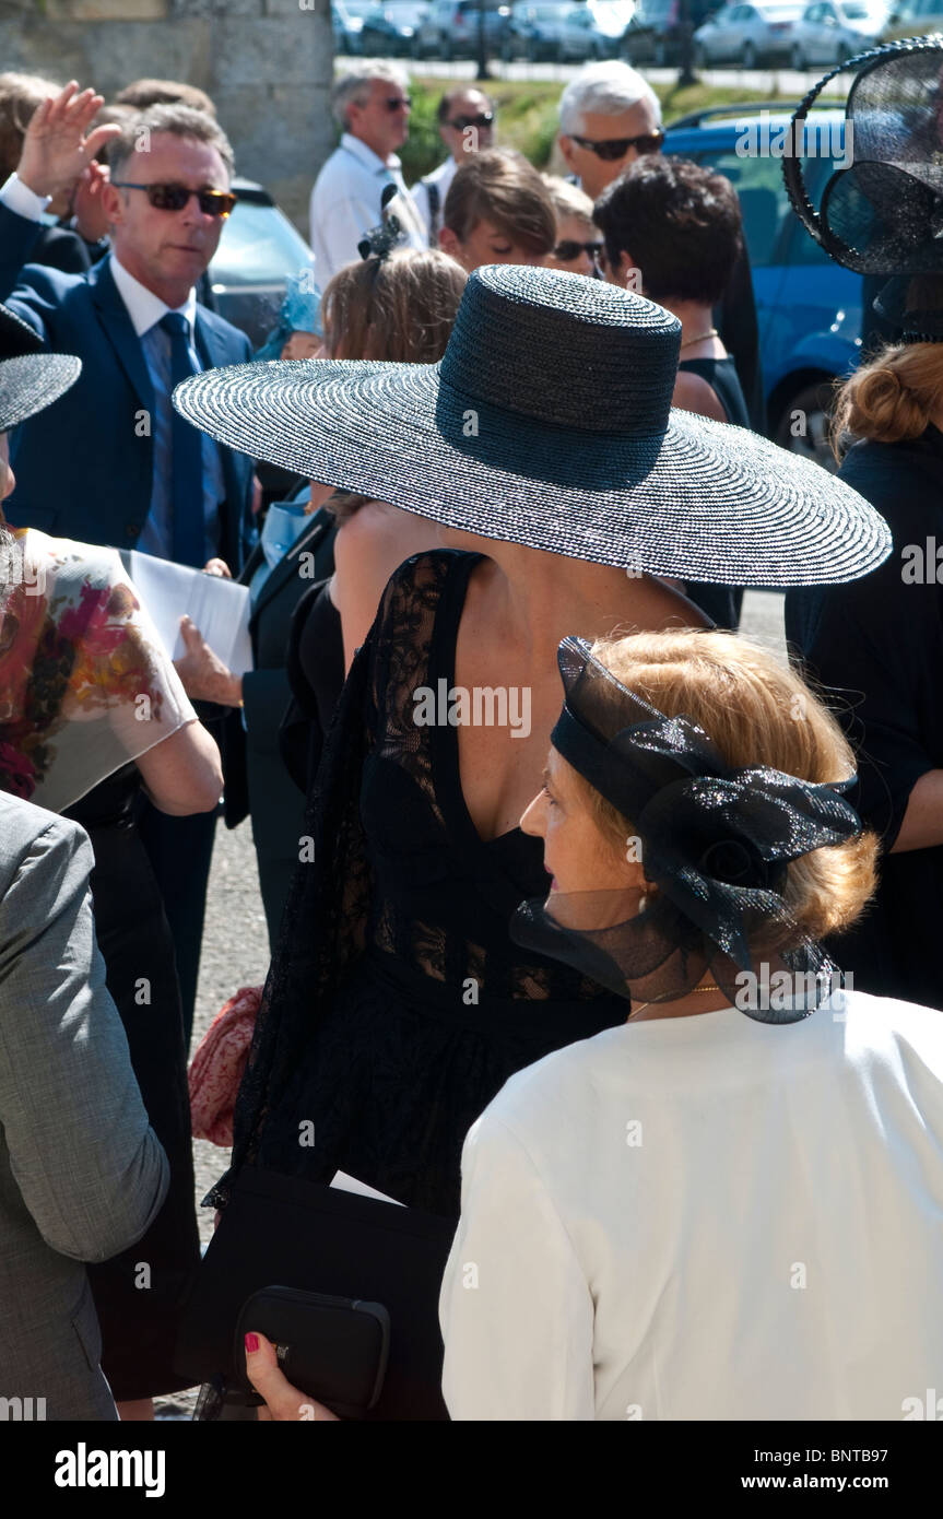
[[[357,653],[214,1205],[257,1164],[316,1182],[346,1171],[457,1217],[465,1133],[507,1077],[626,1018],[620,998],[510,942],[513,910],[548,886],[542,843],[518,828],[483,843],[457,729],[413,720],[418,687],[454,682],[478,557],[408,559]]]

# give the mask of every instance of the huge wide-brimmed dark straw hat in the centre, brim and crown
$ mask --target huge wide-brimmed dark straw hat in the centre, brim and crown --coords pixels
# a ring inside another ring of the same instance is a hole
[[[208,369],[173,392],[213,437],[451,529],[727,585],[850,580],[884,519],[818,465],[671,409],[680,324],[554,269],[471,275],[440,363]]]

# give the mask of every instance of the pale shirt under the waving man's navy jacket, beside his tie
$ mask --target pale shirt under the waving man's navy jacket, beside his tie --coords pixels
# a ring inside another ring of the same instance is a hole
[[[190,327],[190,360],[194,369],[202,369],[203,365],[194,343],[196,290],[190,290],[182,305],[170,307],[153,290],[147,290],[140,279],[128,273],[114,254],[111,254],[111,273],[118,295],[128,308],[131,325],[141,340],[147,374],[153,387],[153,486],[147,521],[141,529],[141,536],[135,548],[140,548],[146,554],[156,554],[159,559],[173,559],[170,334],[158,324],[167,311],[179,311],[181,316],[185,316]],[[219,507],[226,495],[226,488],[219,448],[205,433],[200,434],[200,451],[203,462],[203,562],[207,562],[219,553]]]

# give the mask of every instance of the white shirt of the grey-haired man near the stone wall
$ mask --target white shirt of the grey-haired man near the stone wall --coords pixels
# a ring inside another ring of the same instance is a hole
[[[357,243],[371,228],[380,226],[380,197],[387,184],[396,185],[398,196],[390,210],[408,234],[410,248],[428,248],[428,237],[402,179],[401,159],[390,153],[384,163],[358,137],[345,132],[311,190],[311,248],[322,290],[339,269],[360,260]]]

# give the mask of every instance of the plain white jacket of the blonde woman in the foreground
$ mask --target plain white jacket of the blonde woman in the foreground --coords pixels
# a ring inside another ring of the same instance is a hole
[[[462,1174],[453,1419],[935,1417],[943,1013],[606,1030],[513,1075]]]

